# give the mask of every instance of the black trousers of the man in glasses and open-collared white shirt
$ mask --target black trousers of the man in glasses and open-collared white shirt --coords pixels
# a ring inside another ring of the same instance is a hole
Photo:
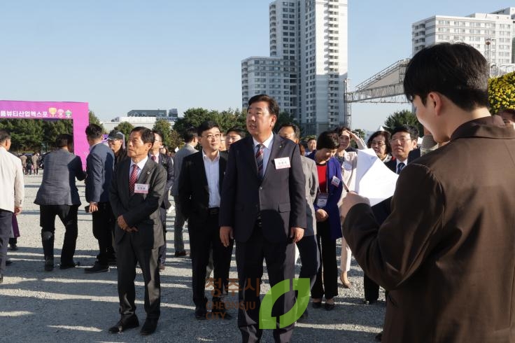
[[[190,253],[192,262],[192,288],[195,306],[206,306],[206,267],[209,262],[209,251],[213,248],[213,298],[222,295],[223,285],[228,283],[231,266],[232,244],[223,246],[220,241],[218,212],[209,214],[203,225],[188,221],[190,232]]]

